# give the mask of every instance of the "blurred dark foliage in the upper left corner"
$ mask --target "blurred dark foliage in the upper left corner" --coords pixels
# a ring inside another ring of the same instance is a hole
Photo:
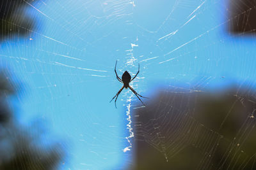
[[[31,33],[34,20],[32,16],[26,14],[26,8],[33,2],[33,0],[0,1],[0,41],[13,36],[28,36]]]

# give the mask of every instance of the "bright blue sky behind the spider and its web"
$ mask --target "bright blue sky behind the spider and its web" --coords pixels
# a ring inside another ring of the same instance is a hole
[[[132,164],[127,110],[159,87],[223,88],[255,83],[255,41],[228,34],[223,1],[38,1],[31,37],[1,44],[0,64],[24,89],[20,122],[42,119],[67,145],[62,169],[122,169]],[[194,86],[195,85],[195,86]],[[132,96],[132,97],[131,97]],[[129,101],[131,97],[131,101]],[[147,99],[143,99],[147,104]],[[140,104],[140,103],[138,103]],[[131,109],[131,117],[133,110]]]

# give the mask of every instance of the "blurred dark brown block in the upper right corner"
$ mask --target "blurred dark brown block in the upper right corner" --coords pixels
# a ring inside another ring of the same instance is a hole
[[[235,34],[256,32],[256,0],[230,0],[229,29]]]

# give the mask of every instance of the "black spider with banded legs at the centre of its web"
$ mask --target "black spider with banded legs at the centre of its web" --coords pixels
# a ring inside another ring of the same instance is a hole
[[[116,63],[117,63],[117,60],[116,60]],[[138,75],[138,73],[140,72],[140,64],[139,64],[139,69],[138,69],[138,72],[136,73],[136,75],[134,76],[134,78],[136,78],[136,76]],[[115,66],[115,73],[116,73],[116,66]],[[132,78],[132,80],[134,80],[134,78]],[[116,106],[116,100],[117,100],[117,97],[119,96],[120,92],[122,92],[122,90],[125,88],[129,88],[132,90],[132,92],[138,97],[138,99],[141,101],[140,97],[143,97],[143,96],[140,96],[140,94],[138,94],[137,92],[135,92],[135,90],[133,90],[131,88],[131,86],[129,85],[129,83],[131,83],[131,75],[128,73],[128,71],[125,71],[124,74],[122,75],[122,80],[121,78],[118,77],[117,73],[116,73],[116,79],[118,81],[120,81],[121,83],[124,83],[123,87],[117,92],[116,96],[113,97],[113,99],[115,99],[115,106]],[[140,97],[139,97],[140,96]],[[143,97],[143,98],[148,98],[148,97]],[[113,99],[111,99],[111,101],[113,101]],[[110,101],[110,102],[111,102]],[[109,103],[110,103],[109,102]],[[145,106],[145,104],[141,101],[141,103]]]

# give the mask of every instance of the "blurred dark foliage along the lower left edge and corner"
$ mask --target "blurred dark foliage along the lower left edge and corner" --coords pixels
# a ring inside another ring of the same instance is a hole
[[[61,143],[42,139],[40,124],[20,125],[8,108],[8,97],[15,90],[6,74],[0,74],[0,169],[47,170],[57,169],[63,159]],[[33,130],[32,130],[33,129]]]

